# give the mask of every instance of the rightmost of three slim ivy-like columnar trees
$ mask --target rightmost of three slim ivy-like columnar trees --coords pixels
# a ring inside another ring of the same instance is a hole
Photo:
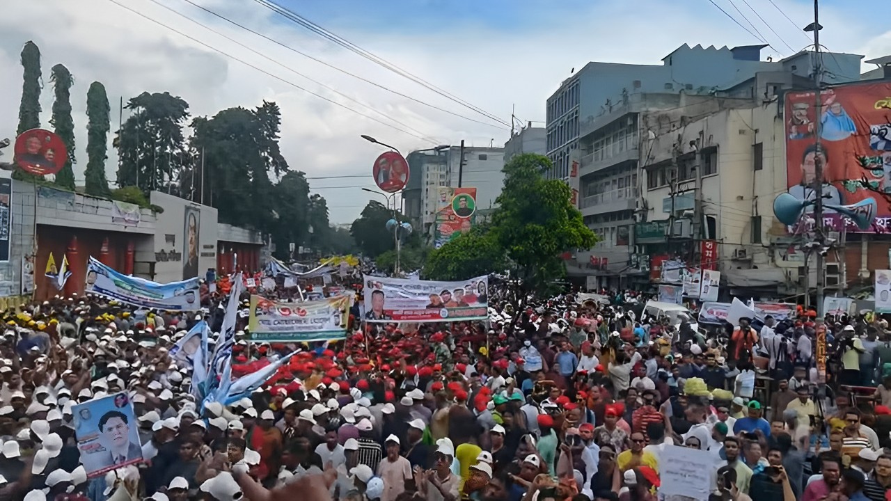
[[[109,181],[105,177],[105,160],[108,159],[110,114],[105,86],[99,82],[90,84],[86,91],[86,194],[107,197]]]

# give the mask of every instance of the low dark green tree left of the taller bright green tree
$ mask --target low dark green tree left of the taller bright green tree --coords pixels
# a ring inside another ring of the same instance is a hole
[[[425,280],[466,280],[501,273],[508,267],[504,250],[494,232],[475,227],[431,250],[421,273]]]

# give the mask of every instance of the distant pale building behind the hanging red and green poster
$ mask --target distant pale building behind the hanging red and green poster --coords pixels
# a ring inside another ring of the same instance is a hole
[[[449,146],[408,154],[410,176],[403,192],[405,216],[421,223],[425,233],[436,218],[438,188],[477,188],[477,208],[491,209],[501,194],[504,149]]]

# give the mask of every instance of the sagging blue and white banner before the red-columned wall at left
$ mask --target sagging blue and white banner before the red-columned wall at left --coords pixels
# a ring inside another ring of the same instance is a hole
[[[137,307],[171,311],[200,309],[199,286],[197,276],[180,282],[156,283],[118,273],[93,257],[86,263],[85,292]]]

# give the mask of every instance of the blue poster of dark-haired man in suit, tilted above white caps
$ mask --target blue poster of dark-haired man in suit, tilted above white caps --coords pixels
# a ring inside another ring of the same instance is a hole
[[[126,392],[94,398],[71,407],[80,464],[97,477],[143,461],[143,446],[133,402]]]

